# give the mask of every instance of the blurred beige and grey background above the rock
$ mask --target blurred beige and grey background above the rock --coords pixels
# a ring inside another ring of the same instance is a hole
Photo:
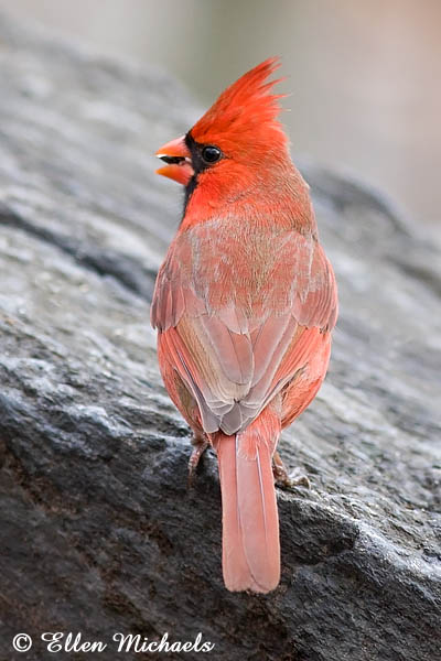
[[[160,66],[206,107],[281,55],[292,153],[441,229],[440,0],[0,0],[0,10]]]

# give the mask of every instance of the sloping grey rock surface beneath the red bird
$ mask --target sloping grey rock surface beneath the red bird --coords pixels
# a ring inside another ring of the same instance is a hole
[[[4,18],[0,89],[0,659],[155,657],[117,631],[201,632],[228,661],[441,659],[440,246],[304,165],[341,297],[329,378],[281,441],[312,488],[278,492],[280,587],[229,594],[215,458],[189,490],[148,321],[181,204],[151,154],[198,109]],[[107,648],[55,655],[43,631]]]

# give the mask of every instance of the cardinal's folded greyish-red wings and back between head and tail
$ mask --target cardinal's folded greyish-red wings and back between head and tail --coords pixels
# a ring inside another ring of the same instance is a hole
[[[204,223],[172,243],[151,319],[205,431],[233,434],[320,349],[336,319],[334,273],[312,236]]]

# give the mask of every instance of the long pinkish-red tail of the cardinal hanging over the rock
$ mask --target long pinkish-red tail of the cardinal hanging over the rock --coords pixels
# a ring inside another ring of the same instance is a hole
[[[280,581],[272,454],[280,421],[266,409],[236,436],[213,434],[219,463],[223,572],[232,592],[267,593]]]

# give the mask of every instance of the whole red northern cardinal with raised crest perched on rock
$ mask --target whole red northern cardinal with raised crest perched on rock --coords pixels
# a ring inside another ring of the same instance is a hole
[[[190,473],[209,444],[217,454],[225,585],[256,593],[280,581],[277,442],[323,381],[337,315],[309,186],[277,120],[278,66],[249,71],[157,152],[158,173],[185,186],[151,306],[161,373],[193,431]]]

